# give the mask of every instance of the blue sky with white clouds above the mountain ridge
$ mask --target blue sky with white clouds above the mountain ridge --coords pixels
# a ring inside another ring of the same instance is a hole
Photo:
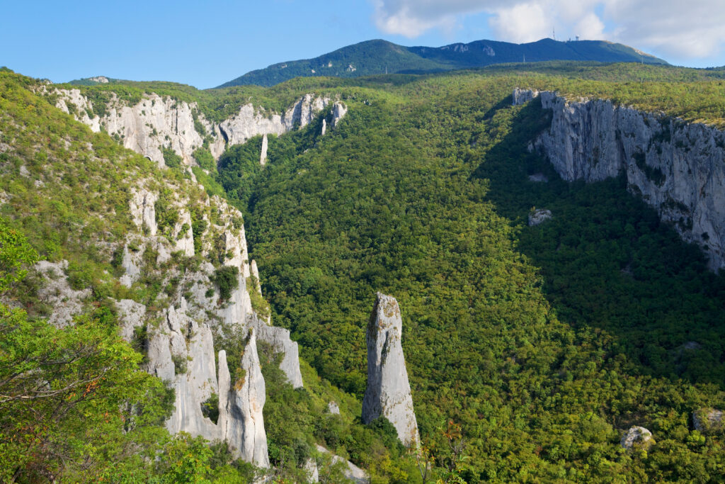
[[[679,65],[725,65],[724,0],[5,2],[0,65],[54,82],[91,75],[217,86],[252,69],[371,38],[604,38]],[[648,10],[650,8],[650,10]],[[705,13],[709,12],[709,15]],[[639,17],[639,18],[638,18]],[[634,18],[634,20],[633,20]],[[642,20],[639,20],[642,19]]]

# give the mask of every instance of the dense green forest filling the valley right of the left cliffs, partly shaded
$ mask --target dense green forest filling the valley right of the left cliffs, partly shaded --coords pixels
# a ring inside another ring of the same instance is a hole
[[[725,279],[623,181],[567,184],[527,152],[547,113],[511,107],[522,79],[502,77],[407,78],[332,136],[273,139],[264,170],[258,139],[223,157],[273,319],[360,397],[374,292],[395,295],[423,439],[445,456],[460,424],[466,482],[721,480],[720,437],[691,414],[723,404]],[[524,81],[643,103],[681,89]],[[693,104],[725,99],[696,87]],[[532,207],[555,217],[524,226]],[[649,452],[619,446],[632,424],[655,433]]]

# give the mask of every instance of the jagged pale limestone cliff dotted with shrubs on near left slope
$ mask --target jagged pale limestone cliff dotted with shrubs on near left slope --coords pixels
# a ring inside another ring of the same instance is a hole
[[[281,369],[292,385],[301,387],[302,375],[289,330],[270,326],[252,308],[249,291],[259,291],[259,274],[255,265],[255,284],[248,287],[252,268],[242,214],[188,181],[142,179],[128,192],[135,229],[109,248],[117,258],[115,276],[134,297],[148,293],[149,278],[165,290],[151,304],[123,299],[115,308],[120,335],[146,348],[146,371],[175,390],[168,430],[227,440],[235,456],[269,467],[257,338],[282,353]],[[215,274],[225,268],[234,268],[236,284],[223,299]],[[63,298],[49,316],[59,327],[83,311],[90,294],[70,290],[66,269],[67,263],[47,261],[36,268],[47,279],[39,295]],[[233,357],[238,366],[229,368],[220,349],[232,340],[244,343],[241,353],[240,345],[228,346],[239,353]]]

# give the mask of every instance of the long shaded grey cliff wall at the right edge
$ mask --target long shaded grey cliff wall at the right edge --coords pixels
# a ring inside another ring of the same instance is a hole
[[[560,176],[600,181],[624,173],[630,192],[653,206],[713,270],[725,267],[725,133],[605,99],[570,101],[550,91],[514,91],[518,104],[538,94],[552,123],[535,142]]]

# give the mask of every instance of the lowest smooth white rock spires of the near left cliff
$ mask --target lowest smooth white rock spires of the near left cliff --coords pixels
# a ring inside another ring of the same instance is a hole
[[[223,350],[219,352],[217,372],[210,327],[189,318],[186,300],[181,301],[178,309],[167,309],[166,324],[154,332],[149,342],[149,373],[170,382],[175,390],[174,412],[166,422],[167,429],[208,440],[227,440],[236,457],[257,467],[269,467],[262,417],[265,382],[254,332],[241,359],[244,377],[232,382]],[[202,412],[202,404],[212,393],[219,398],[216,423]]]

